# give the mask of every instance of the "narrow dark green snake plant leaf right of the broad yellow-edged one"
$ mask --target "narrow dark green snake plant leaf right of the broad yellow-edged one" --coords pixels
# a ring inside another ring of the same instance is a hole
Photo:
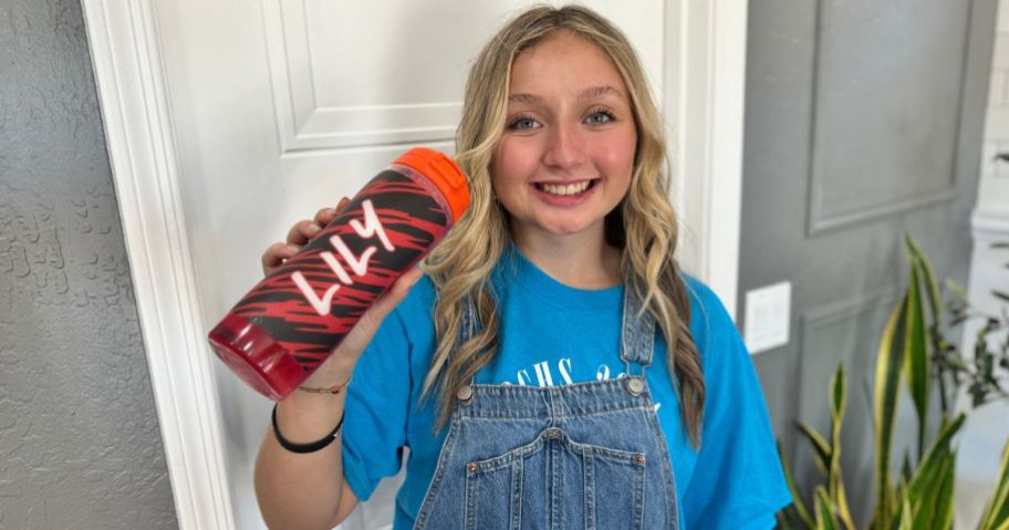
[[[904,341],[904,370],[907,386],[918,415],[918,461],[924,458],[928,432],[928,344],[925,331],[925,309],[922,306],[920,272],[912,267],[907,284],[906,339]]]

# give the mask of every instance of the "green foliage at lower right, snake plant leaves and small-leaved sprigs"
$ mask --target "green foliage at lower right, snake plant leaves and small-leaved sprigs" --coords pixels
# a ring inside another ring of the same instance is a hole
[[[928,258],[911,237],[905,237],[911,266],[904,297],[893,310],[880,340],[873,392],[875,450],[875,510],[871,529],[947,529],[954,517],[954,478],[957,434],[970,411],[994,399],[1009,397],[1009,337],[992,344],[989,339],[1009,329],[1009,313],[988,315],[977,311],[963,289],[947,282],[949,300],[944,305]],[[994,293],[1009,302],[1009,294]],[[965,323],[979,322],[972,355],[965,356],[950,335]],[[994,346],[994,347],[992,347]],[[917,416],[917,458],[904,455],[899,472],[893,472],[893,441],[897,404],[903,384]],[[933,384],[938,388],[933,389]],[[937,391],[937,392],[936,392]],[[930,396],[939,397],[938,428],[929,430]],[[966,405],[958,405],[969,397]],[[793,505],[779,515],[782,528],[855,529],[841,472],[841,428],[847,399],[843,366],[830,385],[831,426],[825,437],[799,426],[813,449],[825,484],[818,485],[809,507],[803,501],[782,454]],[[1009,420],[1009,418],[1007,418]],[[978,523],[980,530],[1009,530],[1009,440],[1006,441],[995,488]]]

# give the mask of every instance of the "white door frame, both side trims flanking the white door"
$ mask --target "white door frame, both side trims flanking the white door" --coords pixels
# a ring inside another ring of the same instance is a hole
[[[82,4],[179,528],[233,529],[154,1]],[[667,0],[664,15],[683,261],[735,314],[747,2]]]

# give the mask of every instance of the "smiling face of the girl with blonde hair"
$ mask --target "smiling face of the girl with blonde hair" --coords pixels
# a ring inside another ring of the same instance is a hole
[[[604,236],[631,186],[637,132],[631,96],[605,52],[560,31],[516,58],[495,194],[517,239]]]

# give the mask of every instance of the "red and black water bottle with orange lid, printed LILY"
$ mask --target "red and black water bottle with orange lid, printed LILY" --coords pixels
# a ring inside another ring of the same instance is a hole
[[[210,332],[210,346],[258,392],[283,399],[468,206],[455,162],[423,147],[404,153],[249,291]]]

